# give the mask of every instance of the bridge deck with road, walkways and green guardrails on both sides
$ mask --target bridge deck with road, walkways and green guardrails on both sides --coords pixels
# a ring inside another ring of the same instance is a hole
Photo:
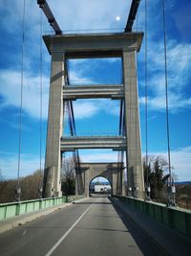
[[[0,205],[1,255],[190,254],[190,211],[121,196],[71,200]]]

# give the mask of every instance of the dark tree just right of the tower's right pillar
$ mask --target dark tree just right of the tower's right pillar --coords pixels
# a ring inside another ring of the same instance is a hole
[[[165,175],[168,171],[167,161],[160,155],[149,156],[147,164],[146,159],[143,159],[143,170],[145,183],[147,183],[148,178],[148,183],[151,188],[151,198],[160,200],[164,184],[169,178],[168,174]],[[147,184],[145,186],[147,186]]]

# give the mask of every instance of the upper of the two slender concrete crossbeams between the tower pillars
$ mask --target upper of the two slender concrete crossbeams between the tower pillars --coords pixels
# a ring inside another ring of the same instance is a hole
[[[71,85],[63,87],[64,100],[109,98],[121,100],[124,98],[122,84],[112,85]]]

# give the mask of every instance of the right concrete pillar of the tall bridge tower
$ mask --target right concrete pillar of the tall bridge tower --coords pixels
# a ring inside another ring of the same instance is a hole
[[[123,83],[125,86],[125,122],[127,139],[128,187],[138,198],[144,198],[144,180],[141,161],[141,146],[138,111],[137,55],[135,51],[123,51]]]

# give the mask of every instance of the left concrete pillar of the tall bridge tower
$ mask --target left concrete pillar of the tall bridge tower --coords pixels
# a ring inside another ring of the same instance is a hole
[[[63,131],[64,54],[52,54],[49,118],[44,175],[44,197],[61,196],[61,152],[60,138]]]

